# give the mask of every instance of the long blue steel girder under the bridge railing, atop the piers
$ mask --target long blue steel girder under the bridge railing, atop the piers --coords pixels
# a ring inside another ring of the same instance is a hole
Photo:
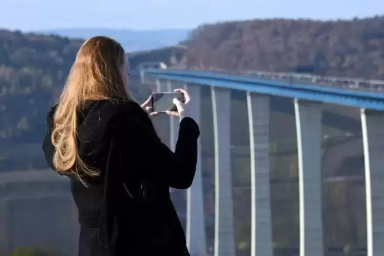
[[[248,76],[207,71],[146,69],[145,74],[158,79],[384,111],[384,94],[377,92],[343,90],[319,85],[290,84],[282,81],[254,79]]]

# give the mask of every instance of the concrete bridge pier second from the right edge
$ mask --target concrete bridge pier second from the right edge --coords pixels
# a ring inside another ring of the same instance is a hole
[[[321,104],[294,100],[299,165],[300,256],[323,256]]]

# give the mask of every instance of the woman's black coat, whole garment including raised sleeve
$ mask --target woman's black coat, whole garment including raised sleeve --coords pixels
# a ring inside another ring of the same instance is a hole
[[[43,150],[48,165],[56,106],[47,115]],[[197,162],[199,128],[184,118],[175,152],[164,145],[152,122],[132,101],[89,101],[78,116],[82,159],[100,170],[88,188],[70,178],[79,208],[79,256],[189,255],[169,187],[191,186]]]

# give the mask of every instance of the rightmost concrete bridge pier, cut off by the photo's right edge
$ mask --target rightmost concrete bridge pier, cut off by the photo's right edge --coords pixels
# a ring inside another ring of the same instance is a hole
[[[361,110],[367,207],[367,256],[384,255],[384,112]]]

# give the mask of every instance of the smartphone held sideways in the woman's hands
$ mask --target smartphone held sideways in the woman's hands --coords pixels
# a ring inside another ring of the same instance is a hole
[[[156,92],[152,93],[152,111],[156,112],[166,112],[177,111],[176,106],[173,104],[173,99],[177,98],[178,100],[185,103],[184,93],[182,92]]]

